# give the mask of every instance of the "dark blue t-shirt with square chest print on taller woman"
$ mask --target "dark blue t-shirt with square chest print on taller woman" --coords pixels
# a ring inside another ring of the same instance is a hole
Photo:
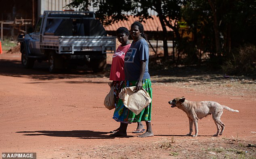
[[[150,78],[149,75],[149,45],[145,39],[132,42],[130,49],[124,57],[125,80],[136,81],[140,77],[141,61],[146,60],[145,73],[143,79]]]

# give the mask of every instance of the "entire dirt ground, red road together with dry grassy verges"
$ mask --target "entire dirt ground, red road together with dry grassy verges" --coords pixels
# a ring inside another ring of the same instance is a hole
[[[129,124],[127,137],[109,137],[119,126],[113,110],[103,106],[109,70],[49,73],[45,62],[23,68],[20,56],[0,54],[1,153],[34,152],[38,159],[256,158],[255,79],[151,63],[154,137],[138,138],[132,133],[136,124]],[[180,96],[214,100],[239,113],[224,110],[222,136],[212,137],[212,116],[199,120],[198,137],[185,136],[186,114],[168,104]]]

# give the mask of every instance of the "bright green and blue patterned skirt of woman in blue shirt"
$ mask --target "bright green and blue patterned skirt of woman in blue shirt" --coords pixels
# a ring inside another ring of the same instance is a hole
[[[137,81],[126,81],[125,86],[131,87],[136,86]],[[149,79],[142,80],[142,87],[149,93],[149,96],[152,99],[152,88],[151,81]],[[140,114],[136,115],[134,112],[130,111],[128,108],[124,106],[122,100],[118,100],[118,104],[115,107],[115,111],[113,114],[113,119],[118,122],[131,124],[132,122],[141,122],[148,121],[151,122],[151,108],[152,102],[144,108]]]

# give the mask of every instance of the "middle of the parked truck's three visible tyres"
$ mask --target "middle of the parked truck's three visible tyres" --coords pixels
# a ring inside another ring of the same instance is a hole
[[[48,58],[48,68],[50,72],[56,72],[58,69],[63,69],[63,58],[61,58],[61,56],[57,55],[55,52],[50,52]]]

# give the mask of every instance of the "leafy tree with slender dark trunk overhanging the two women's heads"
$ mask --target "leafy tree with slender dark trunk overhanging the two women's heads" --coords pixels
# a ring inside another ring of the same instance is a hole
[[[127,20],[128,14],[138,16],[143,21],[144,19],[152,18],[148,10],[154,10],[157,12],[161,22],[164,35],[164,55],[168,57],[166,26],[174,30],[176,38],[180,41],[178,25],[177,23],[172,25],[172,20],[174,22],[180,20],[180,8],[184,2],[185,0],[141,0],[139,2],[136,0],[73,0],[68,6],[80,6],[82,10],[85,10],[91,4],[98,8],[95,12],[96,16],[104,25],[109,25],[119,20]]]

